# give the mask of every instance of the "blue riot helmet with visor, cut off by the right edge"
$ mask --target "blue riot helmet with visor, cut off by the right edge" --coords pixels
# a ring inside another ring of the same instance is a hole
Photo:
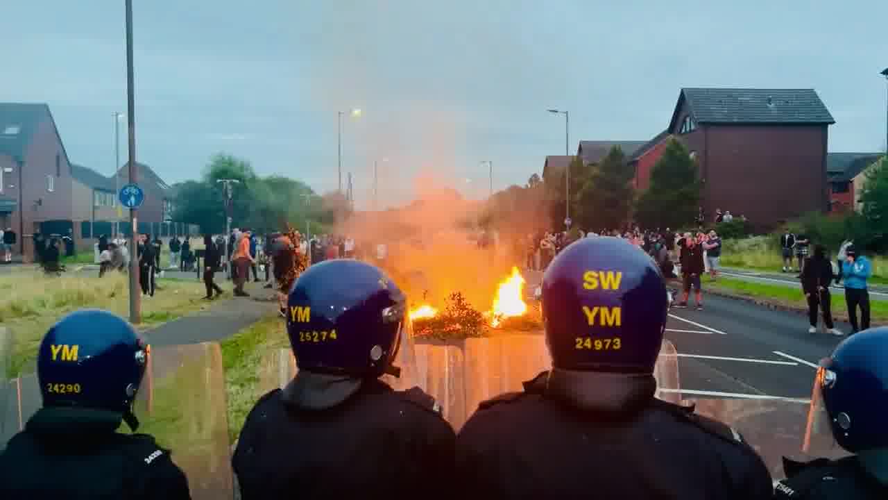
[[[807,429],[829,423],[836,444],[888,483],[888,327],[851,335],[821,360]],[[809,440],[805,439],[805,445]]]

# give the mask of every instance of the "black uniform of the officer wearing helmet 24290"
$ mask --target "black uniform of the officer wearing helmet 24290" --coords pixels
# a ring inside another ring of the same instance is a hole
[[[185,475],[147,434],[115,432],[123,415],[45,407],[0,454],[4,499],[188,499]]]

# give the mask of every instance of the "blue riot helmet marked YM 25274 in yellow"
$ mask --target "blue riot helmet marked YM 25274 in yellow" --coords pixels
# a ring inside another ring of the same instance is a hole
[[[286,320],[299,368],[294,382],[305,393],[323,388],[308,406],[337,404],[362,380],[400,375],[407,299],[375,266],[337,259],[308,268],[290,290]]]

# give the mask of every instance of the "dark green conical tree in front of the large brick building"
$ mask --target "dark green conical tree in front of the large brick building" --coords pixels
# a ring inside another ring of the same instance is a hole
[[[650,187],[636,204],[636,219],[646,228],[679,228],[694,222],[702,182],[694,159],[671,139],[651,171]]]

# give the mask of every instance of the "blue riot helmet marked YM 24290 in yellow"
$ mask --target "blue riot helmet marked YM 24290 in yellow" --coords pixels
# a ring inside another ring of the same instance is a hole
[[[145,375],[149,348],[129,323],[106,310],[72,312],[40,343],[37,377],[44,407],[120,413],[133,431],[132,401]]]

